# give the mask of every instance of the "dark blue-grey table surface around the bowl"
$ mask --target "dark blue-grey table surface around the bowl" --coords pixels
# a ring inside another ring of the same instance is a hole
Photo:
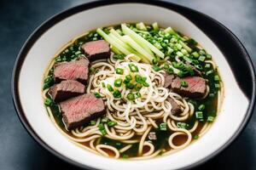
[[[82,0],[0,1],[0,169],[76,169],[44,150],[21,125],[11,99],[11,72],[22,44],[51,15]],[[256,65],[255,0],[174,0],[212,16],[233,31]],[[254,111],[255,113],[256,111]],[[198,169],[256,169],[256,115],[227,150]]]

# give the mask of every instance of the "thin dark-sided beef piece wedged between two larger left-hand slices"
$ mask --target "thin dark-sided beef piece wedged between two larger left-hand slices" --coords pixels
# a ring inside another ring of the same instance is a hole
[[[49,88],[49,94],[55,102],[60,102],[84,94],[84,90],[84,84],[81,82],[66,80]]]

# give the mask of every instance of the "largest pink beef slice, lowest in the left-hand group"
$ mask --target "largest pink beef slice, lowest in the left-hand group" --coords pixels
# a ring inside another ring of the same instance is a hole
[[[94,94],[83,94],[60,103],[67,129],[73,129],[102,116],[105,105]]]

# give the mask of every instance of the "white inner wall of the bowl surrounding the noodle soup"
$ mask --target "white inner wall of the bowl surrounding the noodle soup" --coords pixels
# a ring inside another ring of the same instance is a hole
[[[139,161],[138,163],[138,161],[120,161],[97,156],[69,141],[50,121],[44,108],[41,88],[44,71],[50,60],[73,37],[97,27],[140,21],[145,23],[157,21],[160,26],[172,26],[177,31],[194,38],[203,48],[206,48],[218,65],[224,82],[224,99],[216,121],[201,139],[173,155],[160,156],[154,160]],[[61,156],[84,166],[99,169],[176,169],[187,167],[210,156],[229,141],[240,127],[249,105],[249,100],[238,87],[224,55],[204,32],[181,14],[167,8],[142,3],[120,3],[90,8],[49,26],[49,29],[42,33],[26,54],[26,59],[20,68],[18,83],[20,103],[26,121],[32,130],[38,134],[38,137]]]

